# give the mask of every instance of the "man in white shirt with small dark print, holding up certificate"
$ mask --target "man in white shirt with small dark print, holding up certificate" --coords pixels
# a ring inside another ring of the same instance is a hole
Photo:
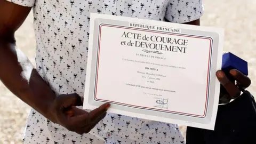
[[[199,25],[201,1],[8,1],[0,0],[0,78],[33,108],[24,143],[185,143],[178,125],[106,113],[109,103],[90,113],[76,106],[83,101],[91,12]],[[36,69],[14,38],[31,7]]]

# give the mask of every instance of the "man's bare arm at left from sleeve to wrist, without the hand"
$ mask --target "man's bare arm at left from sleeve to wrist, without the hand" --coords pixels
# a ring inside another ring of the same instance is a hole
[[[55,94],[19,49],[15,48],[15,31],[27,18],[31,7],[0,0],[0,79],[22,101],[46,118]]]

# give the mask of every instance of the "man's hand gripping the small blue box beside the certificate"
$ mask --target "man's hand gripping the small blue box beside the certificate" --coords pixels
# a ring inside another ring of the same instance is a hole
[[[244,92],[244,89],[251,84],[251,79],[240,71],[231,69],[229,73],[236,80],[236,83],[231,82],[222,70],[218,70],[216,73],[221,85],[227,91],[227,93],[220,92],[220,95],[223,96],[220,99],[221,103],[228,103],[231,99],[239,97],[241,92]]]

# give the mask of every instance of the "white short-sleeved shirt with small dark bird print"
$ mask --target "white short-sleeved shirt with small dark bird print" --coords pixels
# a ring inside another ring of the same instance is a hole
[[[7,0],[33,7],[36,69],[56,94],[84,94],[90,13],[184,23],[199,19],[201,0]],[[70,132],[31,109],[24,143],[185,143],[179,127],[108,113],[88,134]]]

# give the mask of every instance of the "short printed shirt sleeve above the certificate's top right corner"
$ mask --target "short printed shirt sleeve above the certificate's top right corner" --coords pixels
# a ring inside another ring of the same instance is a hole
[[[203,9],[202,0],[170,0],[166,7],[165,19],[176,23],[194,21],[203,15]]]

